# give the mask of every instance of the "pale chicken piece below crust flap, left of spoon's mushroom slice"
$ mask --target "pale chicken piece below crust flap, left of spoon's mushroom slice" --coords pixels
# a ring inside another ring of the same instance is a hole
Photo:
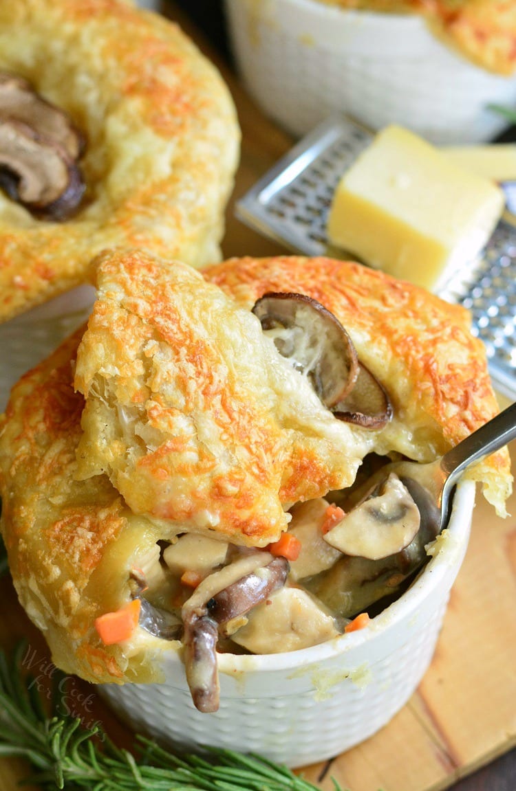
[[[301,542],[296,560],[290,561],[290,579],[302,580],[325,571],[341,557],[342,553],[324,541],[322,525],[326,519],[328,501],[324,498],[308,500],[291,510],[289,533]]]

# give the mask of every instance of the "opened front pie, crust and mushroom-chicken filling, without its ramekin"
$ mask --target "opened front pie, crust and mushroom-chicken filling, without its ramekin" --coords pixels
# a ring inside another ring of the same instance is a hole
[[[421,568],[440,525],[390,462],[497,413],[484,349],[463,308],[357,263],[113,251],[93,278],[0,423],[13,581],[66,672],[156,681],[180,651],[214,711],[217,652],[366,626]],[[504,515],[507,448],[468,475]]]

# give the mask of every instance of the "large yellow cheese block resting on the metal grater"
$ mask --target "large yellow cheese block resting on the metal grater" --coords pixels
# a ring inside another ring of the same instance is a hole
[[[402,127],[386,127],[343,175],[328,240],[396,278],[438,290],[488,241],[503,192]]]

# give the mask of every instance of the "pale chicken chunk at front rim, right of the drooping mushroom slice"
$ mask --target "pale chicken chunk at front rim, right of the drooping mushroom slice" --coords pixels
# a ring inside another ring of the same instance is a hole
[[[252,653],[281,653],[318,645],[340,632],[330,612],[308,592],[281,588],[249,613],[232,636]]]

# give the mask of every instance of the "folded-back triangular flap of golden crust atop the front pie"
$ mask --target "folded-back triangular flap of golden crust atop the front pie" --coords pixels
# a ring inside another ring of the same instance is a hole
[[[106,472],[134,513],[264,546],[283,506],[350,486],[374,432],[336,420],[260,320],[183,263],[97,263],[78,350],[78,475]]]

